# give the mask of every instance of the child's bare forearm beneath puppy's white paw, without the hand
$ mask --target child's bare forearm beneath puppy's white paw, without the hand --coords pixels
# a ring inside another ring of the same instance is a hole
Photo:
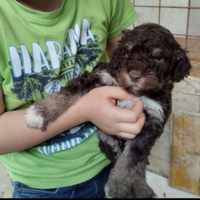
[[[0,155],[33,147],[84,122],[79,116],[77,107],[72,106],[41,132],[39,129],[26,126],[24,114],[25,110],[17,110],[5,112],[0,116]]]

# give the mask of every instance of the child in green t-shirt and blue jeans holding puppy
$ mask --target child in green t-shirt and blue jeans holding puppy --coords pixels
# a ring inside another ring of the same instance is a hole
[[[98,147],[96,126],[134,138],[145,121],[142,102],[119,108],[115,99],[134,97],[106,86],[75,102],[45,132],[27,128],[23,116],[110,58],[137,18],[130,0],[7,0],[0,15],[0,155],[13,197],[103,198],[112,165]]]

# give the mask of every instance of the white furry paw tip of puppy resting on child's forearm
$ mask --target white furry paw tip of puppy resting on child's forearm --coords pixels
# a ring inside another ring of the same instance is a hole
[[[32,105],[27,109],[24,115],[24,121],[30,128],[45,130],[44,118],[38,114],[35,105]]]

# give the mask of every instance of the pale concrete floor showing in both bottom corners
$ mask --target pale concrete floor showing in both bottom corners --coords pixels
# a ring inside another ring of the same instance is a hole
[[[147,171],[147,182],[158,198],[200,198],[200,196],[169,187],[166,178],[149,171]],[[0,160],[0,198],[11,198],[12,191],[11,179]]]

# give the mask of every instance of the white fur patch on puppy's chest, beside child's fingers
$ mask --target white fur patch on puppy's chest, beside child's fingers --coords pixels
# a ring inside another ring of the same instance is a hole
[[[161,122],[163,122],[164,118],[164,112],[163,112],[163,107],[155,100],[150,99],[149,97],[142,96],[142,97],[137,97],[134,100],[131,101],[117,101],[117,106],[122,107],[122,108],[128,108],[131,109],[133,105],[135,104],[136,101],[139,99],[142,100],[143,102],[143,107],[144,110],[147,111],[147,113],[151,117],[155,117],[159,119]]]

